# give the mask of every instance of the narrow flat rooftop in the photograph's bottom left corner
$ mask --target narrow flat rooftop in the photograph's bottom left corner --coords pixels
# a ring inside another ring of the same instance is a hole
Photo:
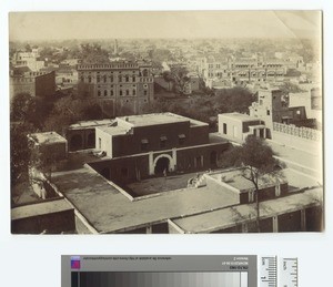
[[[39,202],[36,204],[29,204],[23,206],[18,206],[11,209],[11,219],[22,219],[32,216],[60,213],[73,209],[72,206],[64,199],[54,199],[48,202]]]

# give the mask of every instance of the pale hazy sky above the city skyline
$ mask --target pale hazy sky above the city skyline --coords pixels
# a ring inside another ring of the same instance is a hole
[[[319,11],[14,12],[10,40],[313,38]]]

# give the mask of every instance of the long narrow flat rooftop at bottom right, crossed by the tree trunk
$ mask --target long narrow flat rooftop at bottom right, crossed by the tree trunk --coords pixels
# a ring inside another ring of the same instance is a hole
[[[260,203],[261,218],[315,206],[322,201],[321,187]],[[234,226],[256,216],[255,204],[243,204],[219,211],[172,219],[184,233],[210,233]]]

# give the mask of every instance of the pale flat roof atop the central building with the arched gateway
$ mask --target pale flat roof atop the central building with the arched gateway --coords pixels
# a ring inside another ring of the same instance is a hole
[[[118,117],[119,120],[125,121],[133,126],[148,126],[159,125],[168,123],[182,123],[190,122],[191,125],[208,125],[206,123],[192,120],[190,117],[181,116],[173,113],[153,113],[153,114],[141,114],[141,115],[129,115]]]

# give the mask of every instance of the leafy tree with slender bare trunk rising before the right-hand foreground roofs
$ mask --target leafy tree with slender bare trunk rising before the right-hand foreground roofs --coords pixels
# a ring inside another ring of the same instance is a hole
[[[273,155],[271,146],[253,135],[249,135],[241,146],[233,147],[223,155],[223,167],[242,166],[242,176],[254,186],[258,232],[260,232],[260,181],[266,181],[268,176],[278,177],[280,173],[280,162]]]

